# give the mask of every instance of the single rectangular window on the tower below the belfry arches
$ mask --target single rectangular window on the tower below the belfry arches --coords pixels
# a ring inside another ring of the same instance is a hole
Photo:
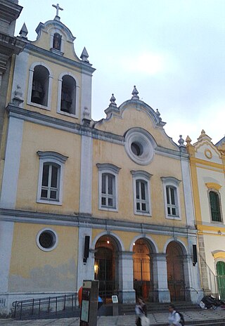
[[[58,200],[59,195],[59,171],[60,167],[44,163],[41,182],[41,199],[42,200]]]

